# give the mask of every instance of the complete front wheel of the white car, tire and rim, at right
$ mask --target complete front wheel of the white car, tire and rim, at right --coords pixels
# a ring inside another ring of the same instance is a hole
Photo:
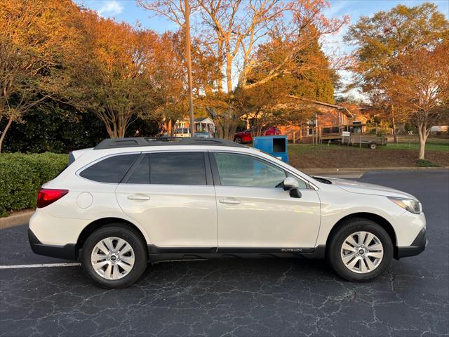
[[[393,258],[389,234],[368,219],[351,219],[330,239],[330,265],[348,281],[369,281],[387,269]]]

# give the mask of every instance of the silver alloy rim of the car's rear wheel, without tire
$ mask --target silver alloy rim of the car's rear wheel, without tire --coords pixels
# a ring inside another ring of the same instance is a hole
[[[93,270],[105,279],[121,279],[134,265],[134,251],[119,237],[107,237],[95,244],[91,254]]]

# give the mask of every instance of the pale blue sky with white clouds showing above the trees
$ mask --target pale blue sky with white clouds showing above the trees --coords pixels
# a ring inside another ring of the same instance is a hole
[[[149,0],[151,1],[151,0]],[[429,0],[427,0],[429,1]],[[370,16],[377,11],[389,11],[398,4],[407,6],[417,6],[425,0],[330,0],[330,7],[326,9],[324,14],[327,18],[342,18],[343,15],[349,15],[350,23],[357,22],[361,15]],[[151,15],[149,11],[137,5],[135,0],[75,0],[77,4],[83,5],[97,11],[99,15],[105,18],[114,18],[117,21],[125,21],[130,25],[135,25],[137,22],[143,27],[153,29],[156,32],[162,33],[167,30],[178,29],[175,23],[170,20]],[[446,18],[449,18],[449,0],[434,0],[433,2],[438,6],[438,10],[443,13]],[[340,32],[332,36],[327,36],[323,41],[323,51],[328,55],[337,53],[350,53],[352,48],[343,44],[342,38],[347,32],[348,26],[340,29]],[[340,72],[343,83],[351,81],[350,72]],[[363,95],[358,93],[355,89],[345,94],[349,98],[362,99]]]

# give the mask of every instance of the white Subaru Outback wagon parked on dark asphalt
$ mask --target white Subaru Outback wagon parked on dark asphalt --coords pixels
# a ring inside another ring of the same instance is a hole
[[[35,253],[81,260],[95,284],[136,282],[147,263],[220,257],[328,258],[366,281],[426,242],[420,201],[310,177],[251,147],[207,138],[119,138],[70,154],[39,191]]]

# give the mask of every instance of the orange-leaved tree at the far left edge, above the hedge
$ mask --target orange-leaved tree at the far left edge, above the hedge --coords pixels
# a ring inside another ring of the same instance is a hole
[[[58,91],[58,69],[76,54],[69,0],[1,1],[0,152],[8,128]]]

